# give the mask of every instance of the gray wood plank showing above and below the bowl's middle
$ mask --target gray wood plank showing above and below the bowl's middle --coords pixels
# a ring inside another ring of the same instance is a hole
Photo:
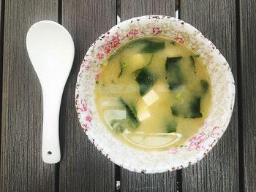
[[[170,15],[174,17],[175,0],[121,0],[121,20],[141,15]],[[121,191],[177,191],[176,172],[138,174],[121,169]]]

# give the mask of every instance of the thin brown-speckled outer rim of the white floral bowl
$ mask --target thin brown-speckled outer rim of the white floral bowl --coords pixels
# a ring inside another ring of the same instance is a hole
[[[170,17],[170,16],[166,16],[166,15],[143,15],[143,16],[140,16],[140,17],[135,17],[135,18],[130,18],[128,20],[124,20],[121,23],[118,23],[115,26],[113,26],[112,28],[110,28],[110,30],[116,30],[116,28],[118,28],[119,26],[127,25],[132,20],[138,20],[138,19],[143,20],[143,19],[154,18],[154,17],[156,19],[158,19],[158,18],[167,18],[167,19],[170,19],[170,21],[172,21],[172,22],[174,21],[174,22],[178,22],[178,23],[186,23],[183,20],[173,18],[173,17]],[[186,23],[186,25],[189,28],[191,28],[192,30],[197,31],[199,34],[201,34],[200,31],[198,31],[195,27],[191,26],[189,23]],[[91,53],[91,49],[93,49],[94,46],[97,44],[96,42],[101,37],[104,37],[104,36],[108,35],[109,31],[107,31],[106,33],[99,36],[99,38],[97,38],[96,41],[94,41],[94,43],[91,44],[88,51],[86,52],[85,58],[86,58],[86,56],[88,56]],[[206,39],[206,41],[208,42],[208,44],[211,44],[215,47],[215,45],[210,40]],[[216,47],[215,47],[214,51],[219,52],[219,50]],[[225,61],[225,63],[227,64],[226,59],[224,58],[224,56],[222,54],[220,54],[220,52],[219,52],[219,57],[222,59],[222,61]],[[230,69],[230,66],[228,64],[227,64],[227,66]],[[77,83],[76,83],[76,87],[75,87],[75,107],[76,107],[76,111],[78,113],[78,119],[80,121],[80,125],[82,127],[83,127],[83,125],[82,125],[83,120],[81,120],[81,117],[80,117],[78,99],[80,98],[79,89],[80,89],[80,80],[81,80],[82,74],[83,74],[83,67],[84,66],[83,66],[83,63],[82,63],[81,66],[80,66],[80,70],[78,72],[78,78],[77,78]],[[162,168],[158,168],[158,169],[146,169],[146,170],[145,169],[135,169],[134,167],[132,167],[128,164],[123,164],[122,162],[118,161],[118,159],[113,158],[112,155],[109,152],[107,153],[104,150],[104,146],[102,146],[102,143],[100,141],[97,141],[97,139],[94,139],[93,137],[91,137],[91,134],[89,134],[89,131],[86,130],[85,128],[84,128],[84,131],[85,131],[87,137],[89,138],[89,140],[94,144],[95,147],[97,147],[97,150],[99,150],[103,155],[105,155],[108,159],[110,159],[110,161],[112,161],[114,164],[117,164],[118,166],[121,166],[125,169],[128,169],[129,171],[143,172],[143,173],[160,173],[160,172],[175,171],[175,170],[178,170],[178,169],[185,168],[187,166],[190,166],[192,164],[197,163],[197,161],[200,161],[204,156],[206,156],[209,153],[209,151],[211,151],[211,149],[217,144],[218,140],[222,137],[222,135],[224,134],[224,131],[227,129],[227,126],[228,126],[228,124],[230,122],[230,119],[231,119],[231,116],[233,114],[233,107],[234,107],[235,97],[236,97],[235,81],[234,81],[233,74],[232,74],[231,70],[229,71],[228,75],[229,75],[230,81],[233,83],[233,87],[230,88],[230,91],[231,91],[230,94],[232,94],[231,101],[230,101],[231,106],[230,106],[230,111],[229,111],[230,115],[226,118],[225,126],[222,127],[223,131],[219,134],[218,138],[215,139],[214,142],[212,142],[211,145],[209,147],[207,147],[206,150],[203,151],[203,153],[198,153],[198,155],[195,158],[190,158],[192,160],[189,161],[188,164],[181,164],[181,166],[175,166],[175,167],[171,167],[171,168],[170,168],[170,166],[168,166],[168,167],[162,167]]]

